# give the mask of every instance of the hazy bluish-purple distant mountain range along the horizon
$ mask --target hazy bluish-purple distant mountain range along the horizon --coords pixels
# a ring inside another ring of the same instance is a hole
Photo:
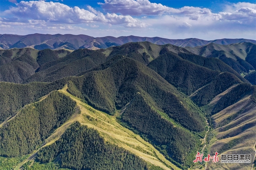
[[[139,37],[139,36],[120,36],[120,37],[92,37],[88,35],[72,35],[72,34],[29,34],[29,35],[13,35],[0,34],[0,49],[25,48],[30,47],[37,50],[43,49],[69,49],[76,50],[79,48],[101,49],[111,46],[120,46],[129,42],[148,41],[157,45],[172,44],[179,47],[197,47],[207,44],[229,45],[234,43],[254,43],[256,40],[251,39],[215,39],[202,40],[198,38],[186,39],[167,39],[161,37]]]

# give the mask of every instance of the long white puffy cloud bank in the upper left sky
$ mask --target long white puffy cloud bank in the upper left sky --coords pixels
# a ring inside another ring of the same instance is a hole
[[[137,28],[145,26],[144,23],[131,16],[110,13],[104,15],[91,6],[88,6],[88,10],[81,9],[77,6],[72,8],[58,2],[21,1],[17,3],[16,7],[11,7],[10,10],[5,12],[18,16],[19,18],[29,17],[33,20],[44,20],[55,23],[79,24],[103,22],[109,24],[125,24],[128,27],[132,24]]]

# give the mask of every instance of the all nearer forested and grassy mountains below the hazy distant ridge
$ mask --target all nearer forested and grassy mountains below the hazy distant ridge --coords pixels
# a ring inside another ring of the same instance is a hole
[[[40,36],[33,41],[62,35]],[[252,42],[183,48],[148,41],[2,49],[0,167],[254,168],[255,49]],[[218,152],[219,160],[251,154],[251,163],[194,163],[197,152]]]

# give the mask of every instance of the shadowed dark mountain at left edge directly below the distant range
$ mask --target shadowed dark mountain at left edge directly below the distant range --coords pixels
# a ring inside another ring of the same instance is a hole
[[[40,65],[69,54],[67,50],[38,51],[31,48],[0,50],[0,81],[22,83]]]

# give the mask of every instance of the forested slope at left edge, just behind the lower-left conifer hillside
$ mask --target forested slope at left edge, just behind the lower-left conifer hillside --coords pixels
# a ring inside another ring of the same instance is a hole
[[[53,90],[62,88],[66,82],[66,79],[53,83],[32,82],[24,85],[0,82],[0,123],[14,115],[23,106]]]

